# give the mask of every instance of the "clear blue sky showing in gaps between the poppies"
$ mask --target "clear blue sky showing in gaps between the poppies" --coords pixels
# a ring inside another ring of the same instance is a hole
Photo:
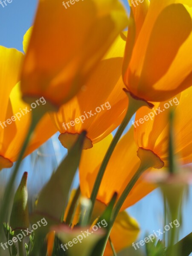
[[[32,25],[37,2],[37,0],[12,0],[12,3],[7,3],[4,8],[0,6],[0,45],[23,51],[23,35]],[[128,6],[127,0],[123,0],[123,2]],[[41,154],[37,154],[37,151],[35,151],[32,156],[26,157],[20,171],[20,177],[23,171],[29,171],[28,184],[32,185],[33,188],[35,187],[36,192],[47,181],[52,169],[58,165],[58,162],[66,153],[57,142],[57,136],[43,145],[38,152]],[[46,168],[44,166],[45,161]],[[32,163],[32,166],[29,168],[30,163]],[[9,173],[10,171],[3,170],[0,173],[0,179],[6,179]],[[192,189],[189,191],[188,200],[192,200]],[[130,207],[128,212],[139,221],[142,228],[141,236],[144,236],[145,232],[153,233],[153,230],[159,230],[159,228],[163,227],[163,203],[158,190]],[[185,204],[181,237],[191,232],[191,212],[192,205]]]

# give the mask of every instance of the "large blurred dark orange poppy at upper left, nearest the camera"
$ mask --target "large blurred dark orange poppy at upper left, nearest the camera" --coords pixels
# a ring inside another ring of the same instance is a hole
[[[22,70],[23,98],[67,102],[127,24],[118,0],[80,1],[67,10],[60,0],[41,0]]]

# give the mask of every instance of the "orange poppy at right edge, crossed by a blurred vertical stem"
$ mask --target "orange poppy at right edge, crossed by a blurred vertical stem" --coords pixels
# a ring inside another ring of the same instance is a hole
[[[169,111],[174,111],[174,148],[181,165],[192,162],[192,87],[166,102],[155,103],[151,112],[143,107],[137,111],[134,135],[137,145],[152,150],[168,166]]]

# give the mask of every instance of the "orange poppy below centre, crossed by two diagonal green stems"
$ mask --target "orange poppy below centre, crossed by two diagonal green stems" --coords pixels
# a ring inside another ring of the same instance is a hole
[[[90,150],[82,152],[79,166],[80,188],[82,195],[87,198],[90,198],[96,175],[112,138],[113,137],[110,134],[104,140],[93,145],[93,148]],[[117,143],[116,148],[114,149],[105,170],[97,200],[107,205],[115,192],[118,193],[119,198],[140,166],[137,150],[138,147],[134,141],[134,131],[133,128],[131,128],[119,140],[119,143]],[[135,204],[153,189],[153,185],[148,186],[148,183],[143,182],[143,178],[140,177],[128,195],[128,198],[125,200],[122,210]]]

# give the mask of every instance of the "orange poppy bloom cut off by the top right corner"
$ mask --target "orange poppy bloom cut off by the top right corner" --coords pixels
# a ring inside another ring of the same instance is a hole
[[[131,17],[123,66],[128,90],[161,102],[191,86],[191,0],[144,0],[131,6]]]

